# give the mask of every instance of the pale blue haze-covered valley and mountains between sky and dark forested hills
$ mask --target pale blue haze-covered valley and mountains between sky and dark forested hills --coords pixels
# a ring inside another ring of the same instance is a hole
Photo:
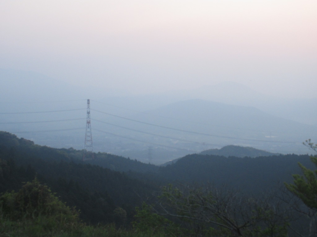
[[[1,102],[1,130],[50,147],[83,149],[84,96],[93,96],[88,98],[95,152],[154,164],[226,145],[306,154],[302,142],[317,134],[308,119],[317,100],[281,101],[235,82],[107,97],[34,72],[2,69],[0,76],[6,82],[1,101],[8,101]]]

